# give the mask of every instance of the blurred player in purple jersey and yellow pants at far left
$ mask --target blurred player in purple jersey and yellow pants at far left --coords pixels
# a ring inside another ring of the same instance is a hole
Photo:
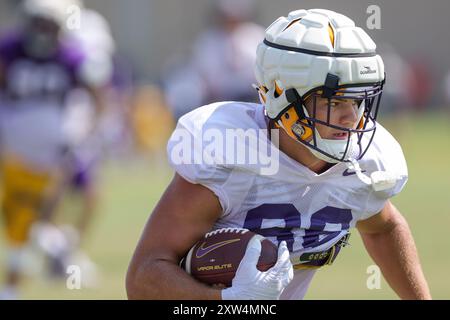
[[[83,88],[98,117],[109,71],[97,68],[99,62],[79,43],[64,39],[70,6],[82,4],[26,0],[23,26],[0,41],[2,217],[9,248],[3,298],[17,297],[24,249],[37,222],[33,240],[53,261],[66,259],[72,250],[52,224],[68,174],[66,100]]]

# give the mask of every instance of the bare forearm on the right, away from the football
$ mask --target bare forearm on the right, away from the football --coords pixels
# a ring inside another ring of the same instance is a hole
[[[414,239],[403,217],[386,232],[361,236],[370,256],[401,299],[431,299]]]

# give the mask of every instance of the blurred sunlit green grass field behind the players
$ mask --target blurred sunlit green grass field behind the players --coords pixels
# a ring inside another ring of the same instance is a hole
[[[401,142],[410,179],[393,199],[407,218],[432,294],[450,299],[450,116],[384,119]],[[95,289],[68,290],[65,282],[30,278],[27,299],[124,299],[125,273],[142,228],[172,177],[166,165],[153,161],[109,161],[102,169],[102,201],[94,232],[86,246],[98,264]],[[372,264],[356,230],[332,267],[316,274],[307,299],[396,299],[383,280],[381,289],[366,287]],[[0,272],[5,259],[0,242]]]

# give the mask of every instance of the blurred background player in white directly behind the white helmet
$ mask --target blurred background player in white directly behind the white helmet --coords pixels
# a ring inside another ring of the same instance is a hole
[[[254,101],[254,48],[264,37],[264,28],[251,22],[255,1],[213,3],[213,25],[194,41],[188,62],[165,72],[166,99],[175,119],[213,101]]]

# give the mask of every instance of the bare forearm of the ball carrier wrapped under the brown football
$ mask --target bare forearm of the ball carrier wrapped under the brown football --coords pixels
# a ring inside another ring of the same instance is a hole
[[[171,262],[158,260],[131,267],[127,275],[129,299],[220,300],[221,290],[206,286]]]

